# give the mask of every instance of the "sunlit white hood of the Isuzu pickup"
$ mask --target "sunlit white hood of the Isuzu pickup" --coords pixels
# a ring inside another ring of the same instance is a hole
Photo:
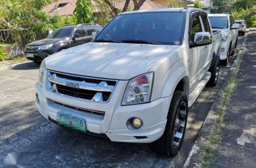
[[[52,54],[47,69],[88,77],[131,79],[148,72],[180,46],[131,43],[87,43]]]

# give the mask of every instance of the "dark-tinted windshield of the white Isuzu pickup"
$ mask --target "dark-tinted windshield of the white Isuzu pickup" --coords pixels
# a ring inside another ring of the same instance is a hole
[[[184,14],[157,12],[118,15],[94,42],[181,45]]]

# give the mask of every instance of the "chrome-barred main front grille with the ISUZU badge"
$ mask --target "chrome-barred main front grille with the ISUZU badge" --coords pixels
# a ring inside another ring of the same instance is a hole
[[[48,72],[48,90],[93,102],[108,102],[118,82],[61,72]]]

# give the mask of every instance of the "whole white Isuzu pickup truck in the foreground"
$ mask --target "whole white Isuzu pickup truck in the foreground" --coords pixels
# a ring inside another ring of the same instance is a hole
[[[198,8],[121,13],[41,63],[36,107],[58,125],[176,155],[188,107],[217,84],[221,40]]]

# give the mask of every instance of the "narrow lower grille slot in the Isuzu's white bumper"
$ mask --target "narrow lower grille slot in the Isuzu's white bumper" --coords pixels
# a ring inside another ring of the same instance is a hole
[[[95,115],[95,116],[105,116],[105,112],[99,112],[99,111],[94,111],[94,110],[90,110],[90,109],[74,107],[74,106],[71,106],[71,105],[65,105],[61,102],[55,102],[53,100],[52,100],[52,103],[53,103],[53,105],[57,105],[59,107],[64,107],[66,109],[71,109],[71,110],[74,110],[74,111],[77,111],[77,112],[83,112],[83,113],[92,114],[92,115]]]

